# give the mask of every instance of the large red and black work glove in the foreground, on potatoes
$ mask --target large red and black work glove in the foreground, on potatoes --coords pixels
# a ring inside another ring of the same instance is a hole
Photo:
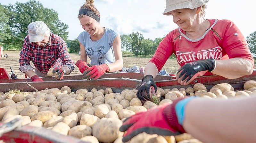
[[[172,104],[163,104],[127,118],[120,127],[121,132],[127,131],[122,141],[127,142],[142,132],[164,136],[184,133],[175,111],[175,105],[182,99],[178,98]]]

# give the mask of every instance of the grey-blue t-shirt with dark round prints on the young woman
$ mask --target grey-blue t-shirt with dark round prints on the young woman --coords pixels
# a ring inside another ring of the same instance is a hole
[[[84,31],[79,34],[78,40],[85,46],[87,56],[93,65],[102,65],[115,62],[113,41],[120,35],[115,30],[105,28],[101,39],[93,41],[88,32]]]

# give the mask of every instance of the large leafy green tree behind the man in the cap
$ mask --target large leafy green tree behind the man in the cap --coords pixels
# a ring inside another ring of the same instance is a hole
[[[43,21],[51,32],[67,40],[68,25],[59,20],[56,11],[44,8],[40,2],[35,0],[25,3],[16,2],[14,5],[9,4],[4,7],[10,17],[8,25],[12,31],[12,38],[5,41],[7,44],[15,43],[22,47],[23,40],[28,34],[28,25],[34,21]]]

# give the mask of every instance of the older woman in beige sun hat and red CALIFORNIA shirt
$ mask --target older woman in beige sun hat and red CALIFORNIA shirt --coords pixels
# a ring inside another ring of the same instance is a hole
[[[137,92],[142,101],[151,99],[149,91],[156,92],[153,78],[173,53],[181,67],[176,74],[181,85],[202,75],[235,79],[252,74],[254,61],[243,34],[230,20],[204,19],[208,1],[166,0],[163,14],[172,16],[178,28],[160,42],[145,68]]]

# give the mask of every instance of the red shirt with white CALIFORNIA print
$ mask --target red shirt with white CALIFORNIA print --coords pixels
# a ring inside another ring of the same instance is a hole
[[[175,29],[159,43],[159,46],[149,62],[162,69],[169,56],[176,55],[178,64],[203,60],[226,60],[230,58],[243,58],[254,66],[252,53],[243,34],[230,20],[210,19],[211,27],[204,35],[196,40],[189,39],[182,29]],[[205,75],[212,75],[207,72]]]

